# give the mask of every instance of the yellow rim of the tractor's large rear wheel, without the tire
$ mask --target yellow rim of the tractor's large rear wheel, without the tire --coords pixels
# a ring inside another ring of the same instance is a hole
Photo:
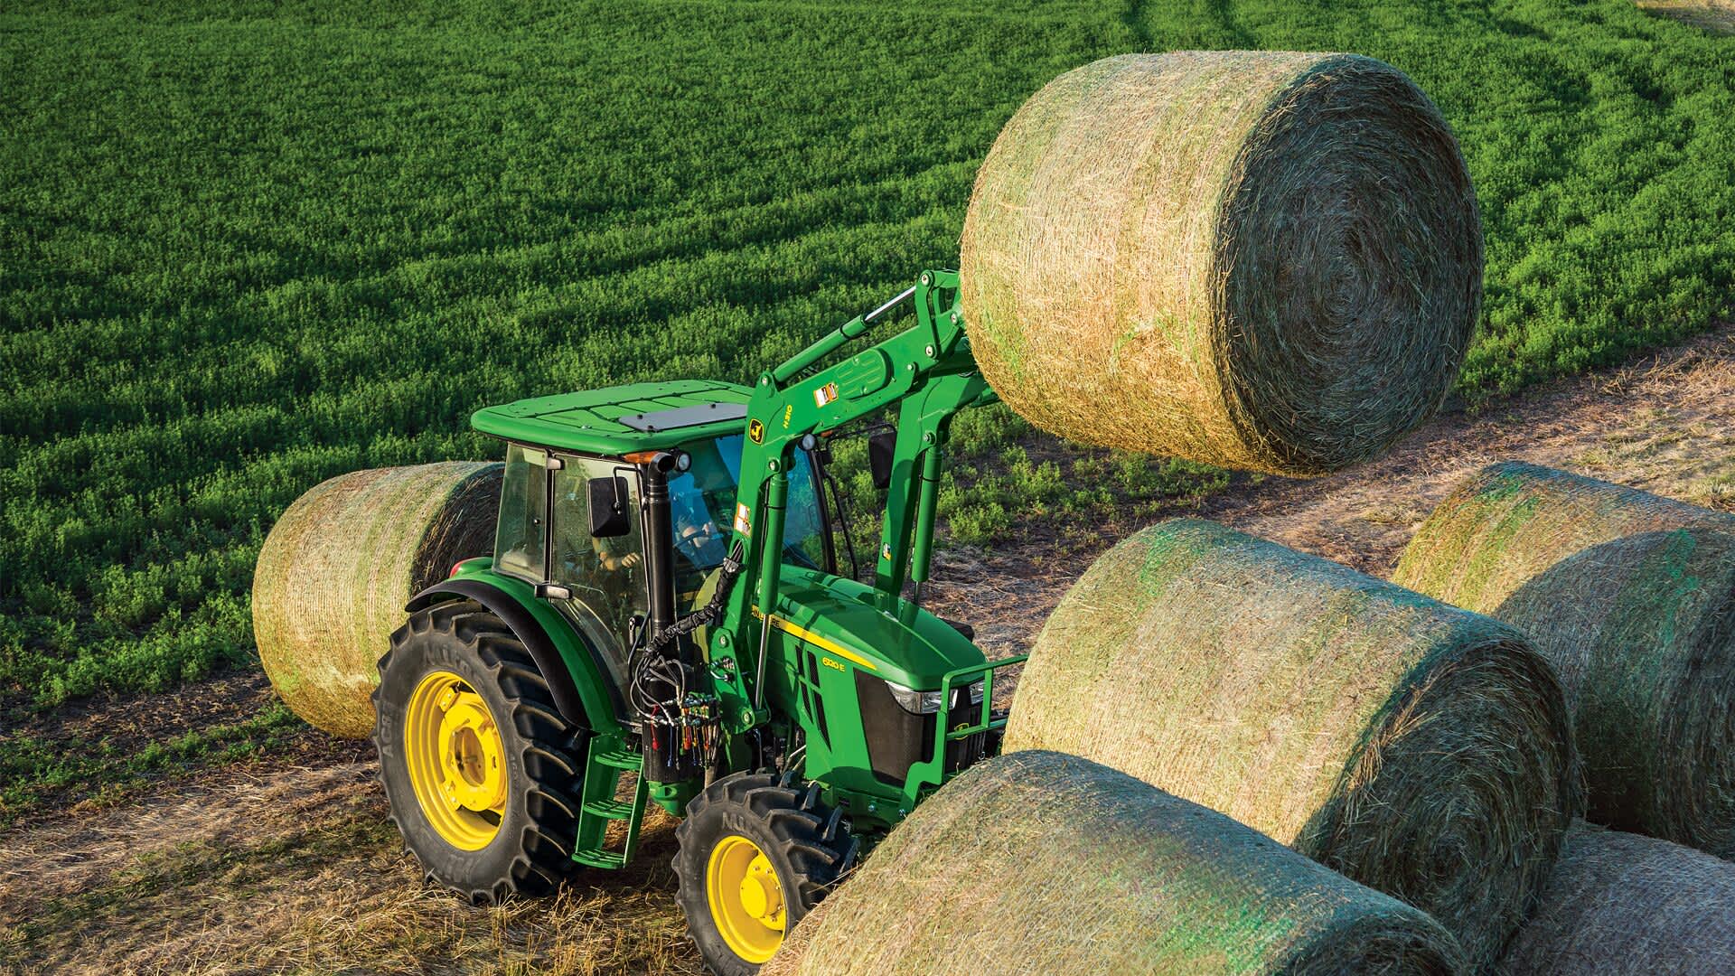
[[[404,761],[416,804],[460,851],[481,851],[507,813],[507,750],[482,696],[449,670],[416,684],[404,710]]]

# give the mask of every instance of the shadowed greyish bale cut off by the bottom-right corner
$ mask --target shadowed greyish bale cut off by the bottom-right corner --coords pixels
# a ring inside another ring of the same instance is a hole
[[[1735,865],[1692,847],[1579,827],[1535,917],[1501,959],[1509,976],[1735,973]]]

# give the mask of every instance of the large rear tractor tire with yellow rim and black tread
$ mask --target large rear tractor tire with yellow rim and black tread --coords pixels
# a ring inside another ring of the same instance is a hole
[[[498,617],[470,599],[413,613],[373,707],[392,823],[429,880],[491,905],[573,872],[585,729]]]

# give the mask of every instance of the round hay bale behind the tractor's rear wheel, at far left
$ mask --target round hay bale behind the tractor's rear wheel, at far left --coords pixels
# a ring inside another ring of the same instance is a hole
[[[253,568],[253,639],[278,696],[328,733],[373,733],[378,660],[404,603],[494,549],[500,464],[340,474],[297,498]]]

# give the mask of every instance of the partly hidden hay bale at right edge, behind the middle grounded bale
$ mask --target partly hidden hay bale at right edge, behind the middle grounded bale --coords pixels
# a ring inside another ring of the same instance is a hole
[[[1586,816],[1735,856],[1735,518],[1496,464],[1433,511],[1393,580],[1549,658]]]

